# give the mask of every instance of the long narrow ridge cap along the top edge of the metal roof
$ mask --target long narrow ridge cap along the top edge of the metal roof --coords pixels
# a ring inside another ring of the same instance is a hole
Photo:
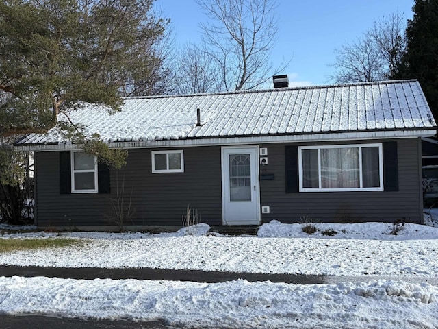
[[[172,94],[172,95],[145,95],[145,96],[131,96],[122,97],[122,99],[159,99],[159,98],[183,98],[183,97],[195,97],[195,96],[214,96],[214,95],[238,95],[238,94],[250,94],[250,93],[275,93],[285,90],[308,90],[308,89],[323,89],[323,88],[342,88],[348,86],[367,86],[377,84],[400,84],[403,82],[417,82],[417,79],[404,79],[404,80],[381,80],[370,82],[350,82],[344,84],[322,84],[318,86],[296,86],[285,88],[270,88],[270,89],[251,89],[251,90],[235,90],[235,91],[221,91],[217,93],[192,93],[192,94]]]

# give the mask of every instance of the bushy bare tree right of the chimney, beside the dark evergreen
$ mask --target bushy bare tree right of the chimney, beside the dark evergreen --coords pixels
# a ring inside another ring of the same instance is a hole
[[[336,60],[330,76],[337,83],[387,80],[394,76],[406,47],[403,36],[406,22],[396,12],[374,22],[374,27],[341,49],[335,49]]]

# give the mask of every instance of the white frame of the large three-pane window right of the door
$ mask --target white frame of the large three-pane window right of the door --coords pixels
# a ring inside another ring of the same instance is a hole
[[[359,148],[359,187],[355,188],[321,188],[321,149],[339,149],[339,148]],[[378,187],[363,187],[363,172],[362,172],[362,148],[363,147],[378,147]],[[302,187],[302,150],[318,149],[318,186],[319,188],[304,188]],[[298,175],[299,175],[299,191],[300,192],[354,192],[354,191],[383,191],[383,148],[382,143],[372,144],[342,144],[342,145],[318,145],[318,146],[299,146],[298,147]]]

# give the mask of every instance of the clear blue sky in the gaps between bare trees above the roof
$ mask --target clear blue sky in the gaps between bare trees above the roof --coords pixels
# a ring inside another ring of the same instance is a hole
[[[413,16],[414,0],[279,0],[278,39],[272,49],[272,63],[279,66],[292,58],[283,73],[289,86],[331,83],[329,75],[335,49],[350,43],[371,29],[374,21],[400,12]],[[177,43],[198,42],[199,23],[205,16],[194,0],[157,0],[155,6],[171,19]]]

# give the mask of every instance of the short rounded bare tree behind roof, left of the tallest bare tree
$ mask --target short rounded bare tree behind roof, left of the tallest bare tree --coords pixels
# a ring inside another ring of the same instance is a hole
[[[221,89],[220,71],[209,53],[196,45],[185,45],[177,56],[175,93],[214,93]]]

